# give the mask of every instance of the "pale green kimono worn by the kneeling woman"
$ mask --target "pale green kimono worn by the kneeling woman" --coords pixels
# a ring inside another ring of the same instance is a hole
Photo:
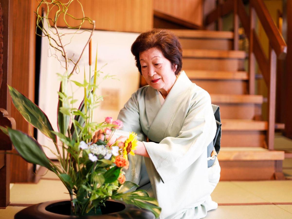
[[[123,121],[124,131],[138,133],[138,140],[145,144],[150,156],[145,158],[145,166],[162,208],[160,218],[203,218],[215,208],[209,205],[206,159],[207,146],[216,132],[210,95],[184,71],[163,105],[157,92],[150,86],[139,88],[118,119]],[[145,142],[145,136],[154,142]],[[142,157],[128,157],[126,180],[139,184]]]

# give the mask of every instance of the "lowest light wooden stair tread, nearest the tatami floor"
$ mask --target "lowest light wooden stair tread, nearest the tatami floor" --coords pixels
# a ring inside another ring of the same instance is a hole
[[[284,160],[284,151],[270,151],[263,147],[222,147],[219,161]]]

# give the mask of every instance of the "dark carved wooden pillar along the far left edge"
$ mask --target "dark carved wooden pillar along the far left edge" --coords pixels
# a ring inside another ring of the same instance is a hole
[[[8,116],[11,101],[6,84],[11,84],[12,66],[12,1],[0,0],[0,125],[15,128],[15,120]],[[8,112],[7,112],[8,111]],[[10,154],[8,136],[0,131],[0,208],[10,203]]]

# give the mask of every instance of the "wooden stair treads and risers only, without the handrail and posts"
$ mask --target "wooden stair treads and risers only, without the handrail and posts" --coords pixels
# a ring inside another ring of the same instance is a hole
[[[234,51],[233,32],[175,30],[183,46],[183,70],[220,106],[220,180],[270,180],[284,152],[268,150],[267,121],[261,120],[262,95],[248,92],[244,51]],[[279,174],[277,174],[279,175]]]

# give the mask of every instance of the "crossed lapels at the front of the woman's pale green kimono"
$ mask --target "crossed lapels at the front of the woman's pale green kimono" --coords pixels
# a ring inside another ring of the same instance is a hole
[[[190,79],[184,71],[181,71],[162,106],[157,93],[159,91],[148,87],[145,108],[150,125],[149,132],[147,133],[149,139],[154,142],[160,142],[163,138],[167,137],[165,136],[166,130],[176,111],[180,108],[180,103],[182,102],[180,98],[184,96],[191,85]]]

